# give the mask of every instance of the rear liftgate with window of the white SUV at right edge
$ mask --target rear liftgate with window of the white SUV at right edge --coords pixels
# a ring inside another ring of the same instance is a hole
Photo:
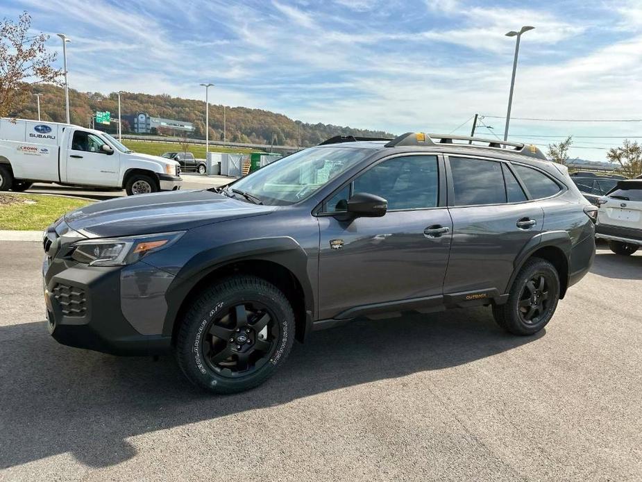
[[[606,199],[598,210],[600,224],[642,231],[642,180],[620,181]]]

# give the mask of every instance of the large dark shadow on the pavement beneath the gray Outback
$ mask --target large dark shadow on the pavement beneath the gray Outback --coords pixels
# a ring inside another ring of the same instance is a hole
[[[63,347],[44,322],[0,328],[0,469],[71,452],[92,467],[136,454],[126,438],[360,383],[453,367],[537,340],[508,335],[487,308],[357,320],[296,344],[267,383],[214,396],[172,357],[118,358]]]

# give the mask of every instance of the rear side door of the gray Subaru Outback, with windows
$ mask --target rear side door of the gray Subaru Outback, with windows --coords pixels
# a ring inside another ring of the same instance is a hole
[[[450,155],[447,165],[453,241],[444,295],[502,294],[518,253],[541,232],[543,210],[509,163]]]

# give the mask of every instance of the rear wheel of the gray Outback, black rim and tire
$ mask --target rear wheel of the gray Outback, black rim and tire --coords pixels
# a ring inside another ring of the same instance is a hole
[[[499,326],[514,335],[533,335],[552,318],[559,301],[559,275],[547,260],[531,258],[523,265],[505,304],[493,306]]]

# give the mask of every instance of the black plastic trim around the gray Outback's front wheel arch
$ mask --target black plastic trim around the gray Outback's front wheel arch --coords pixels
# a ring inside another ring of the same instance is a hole
[[[312,319],[316,313],[316,299],[312,281],[307,272],[308,256],[298,242],[289,236],[283,236],[236,241],[206,249],[192,256],[192,259],[180,269],[165,294],[168,310],[162,333],[165,335],[172,333],[183,301],[194,287],[212,272],[234,263],[253,260],[275,263],[294,275],[303,289],[305,331],[308,332],[307,328],[312,325]]]

